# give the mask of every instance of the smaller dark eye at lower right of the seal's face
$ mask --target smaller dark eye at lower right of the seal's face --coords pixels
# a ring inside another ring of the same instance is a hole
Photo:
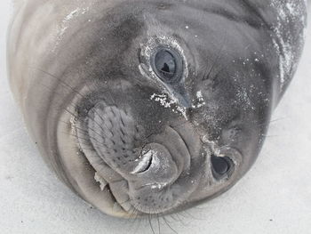
[[[216,180],[229,177],[233,171],[234,163],[229,157],[211,155],[211,173]]]

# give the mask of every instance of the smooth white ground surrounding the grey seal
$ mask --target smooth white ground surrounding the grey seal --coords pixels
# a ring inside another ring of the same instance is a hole
[[[115,219],[85,204],[44,165],[6,78],[9,2],[0,3],[0,234],[152,233],[148,221]],[[307,34],[299,71],[275,110],[256,164],[219,198],[167,217],[179,234],[311,233],[311,31]],[[161,233],[174,233],[160,224]],[[158,233],[157,222],[153,227]]]

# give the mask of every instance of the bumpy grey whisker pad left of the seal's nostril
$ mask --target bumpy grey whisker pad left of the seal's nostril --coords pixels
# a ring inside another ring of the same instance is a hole
[[[140,155],[143,133],[132,117],[122,109],[100,102],[89,111],[86,122],[87,137],[100,158],[117,173],[133,171],[139,164],[135,160]]]

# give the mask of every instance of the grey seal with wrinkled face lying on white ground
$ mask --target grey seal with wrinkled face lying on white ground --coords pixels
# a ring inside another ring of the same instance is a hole
[[[304,44],[302,0],[24,0],[12,93],[60,179],[118,217],[178,212],[251,168]]]

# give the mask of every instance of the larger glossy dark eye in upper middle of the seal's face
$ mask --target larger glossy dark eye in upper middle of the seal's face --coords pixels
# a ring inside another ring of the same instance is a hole
[[[158,77],[166,83],[179,81],[182,73],[182,59],[169,48],[159,48],[151,59],[151,64]]]

